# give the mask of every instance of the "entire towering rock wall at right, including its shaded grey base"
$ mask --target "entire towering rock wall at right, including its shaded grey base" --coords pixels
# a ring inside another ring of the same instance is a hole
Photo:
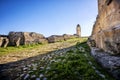
[[[98,0],[98,16],[88,45],[94,58],[120,80],[120,0]]]

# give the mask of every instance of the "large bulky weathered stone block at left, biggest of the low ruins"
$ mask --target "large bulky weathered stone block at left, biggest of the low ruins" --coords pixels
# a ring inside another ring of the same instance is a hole
[[[47,42],[42,34],[35,32],[10,32],[8,36],[13,46]]]

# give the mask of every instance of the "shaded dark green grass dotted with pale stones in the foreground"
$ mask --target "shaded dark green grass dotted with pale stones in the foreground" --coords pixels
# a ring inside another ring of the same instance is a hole
[[[85,54],[88,56],[87,58]],[[29,73],[30,76],[36,75],[36,77],[39,77],[40,74],[43,74],[47,80],[115,80],[90,55],[90,48],[86,42],[78,42],[66,53],[62,55],[54,54],[53,56],[52,59],[48,58],[34,63],[37,64],[37,70]],[[93,64],[90,65],[89,61]],[[40,66],[43,66],[44,69],[40,69]],[[96,70],[103,74],[105,78],[97,74],[92,66],[96,67]],[[47,69],[48,67],[49,69]],[[44,77],[40,77],[40,79]]]

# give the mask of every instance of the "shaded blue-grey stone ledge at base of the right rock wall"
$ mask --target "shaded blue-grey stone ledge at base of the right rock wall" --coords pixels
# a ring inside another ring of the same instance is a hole
[[[98,48],[91,48],[92,56],[110,72],[116,80],[120,80],[120,56],[112,56]]]

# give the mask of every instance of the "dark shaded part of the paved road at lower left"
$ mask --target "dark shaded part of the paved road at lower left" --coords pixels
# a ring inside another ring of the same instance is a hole
[[[51,53],[56,54],[58,51],[66,52],[70,50],[72,47],[74,46],[47,52],[45,54],[40,54],[37,56],[29,57],[29,58],[19,60],[16,62],[0,64],[0,80],[15,80],[19,76],[19,74],[22,72],[23,66],[34,63],[35,61],[42,59],[43,56],[51,54]]]

